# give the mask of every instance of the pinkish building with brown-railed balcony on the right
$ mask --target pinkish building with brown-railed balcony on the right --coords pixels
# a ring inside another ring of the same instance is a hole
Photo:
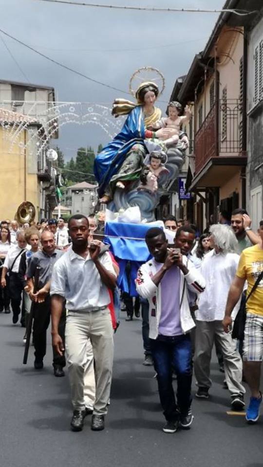
[[[227,0],[223,9],[258,7],[256,0],[245,5],[243,0]],[[246,206],[247,31],[256,15],[221,13],[204,51],[194,57],[171,95],[193,112],[187,128],[193,144],[186,182],[191,198],[185,202],[185,214],[200,231],[216,223],[220,211],[230,216],[235,208]]]

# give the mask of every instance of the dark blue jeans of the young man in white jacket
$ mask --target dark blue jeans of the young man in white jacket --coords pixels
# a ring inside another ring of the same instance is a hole
[[[168,421],[186,415],[191,406],[192,345],[190,334],[150,339],[151,355],[157,373],[158,390],[163,413]],[[172,387],[172,371],[177,375],[177,404]]]

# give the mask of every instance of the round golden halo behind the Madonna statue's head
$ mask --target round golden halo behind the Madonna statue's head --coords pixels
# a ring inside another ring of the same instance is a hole
[[[165,89],[165,78],[164,75],[153,67],[142,67],[136,70],[130,79],[129,91],[136,97],[136,91],[142,83],[151,82],[158,87],[159,96],[163,93]]]

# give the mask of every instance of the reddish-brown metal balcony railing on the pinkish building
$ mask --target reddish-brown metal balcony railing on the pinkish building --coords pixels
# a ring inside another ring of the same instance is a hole
[[[242,111],[239,99],[221,99],[214,103],[195,134],[195,176],[211,158],[242,154]]]

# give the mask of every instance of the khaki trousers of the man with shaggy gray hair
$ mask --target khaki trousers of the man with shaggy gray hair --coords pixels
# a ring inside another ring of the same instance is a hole
[[[194,373],[197,384],[210,388],[210,361],[214,341],[220,345],[224,357],[225,379],[231,394],[244,394],[242,359],[231,334],[226,334],[222,321],[196,321]]]

